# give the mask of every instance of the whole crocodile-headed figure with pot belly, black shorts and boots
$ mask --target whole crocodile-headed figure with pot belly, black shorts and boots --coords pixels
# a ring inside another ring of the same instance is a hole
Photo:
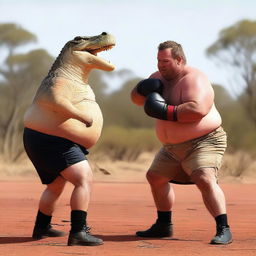
[[[114,37],[106,32],[68,41],[25,113],[24,147],[46,185],[39,202],[34,239],[64,235],[52,228],[51,218],[68,181],[74,186],[68,245],[103,243],[90,234],[86,222],[92,171],[85,155],[99,139],[103,125],[88,77],[92,69],[115,68],[97,56],[114,45]]]

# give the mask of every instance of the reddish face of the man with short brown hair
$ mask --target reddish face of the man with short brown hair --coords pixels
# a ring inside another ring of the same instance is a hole
[[[178,72],[179,72],[179,67],[178,59],[174,59],[172,57],[172,49],[164,49],[164,50],[159,50],[157,54],[157,67],[161,75],[163,76],[164,79],[166,80],[172,80],[174,79]]]

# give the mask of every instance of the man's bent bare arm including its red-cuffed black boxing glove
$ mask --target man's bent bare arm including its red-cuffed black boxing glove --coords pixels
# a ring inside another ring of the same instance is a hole
[[[197,122],[207,115],[214,99],[214,92],[208,79],[199,73],[188,75],[180,83],[180,104],[167,104],[161,95],[151,93],[144,104],[146,114],[157,119],[182,123]]]

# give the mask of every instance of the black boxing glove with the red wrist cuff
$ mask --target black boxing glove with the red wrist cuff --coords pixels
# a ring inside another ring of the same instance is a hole
[[[157,92],[150,93],[144,104],[147,115],[168,121],[177,121],[177,106],[166,104],[164,98]]]

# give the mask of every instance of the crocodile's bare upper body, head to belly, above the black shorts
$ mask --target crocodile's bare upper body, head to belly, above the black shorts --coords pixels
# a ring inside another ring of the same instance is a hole
[[[114,46],[115,37],[106,32],[68,41],[25,112],[24,126],[92,147],[101,135],[103,116],[88,83],[89,74],[92,69],[115,69],[98,56]]]

